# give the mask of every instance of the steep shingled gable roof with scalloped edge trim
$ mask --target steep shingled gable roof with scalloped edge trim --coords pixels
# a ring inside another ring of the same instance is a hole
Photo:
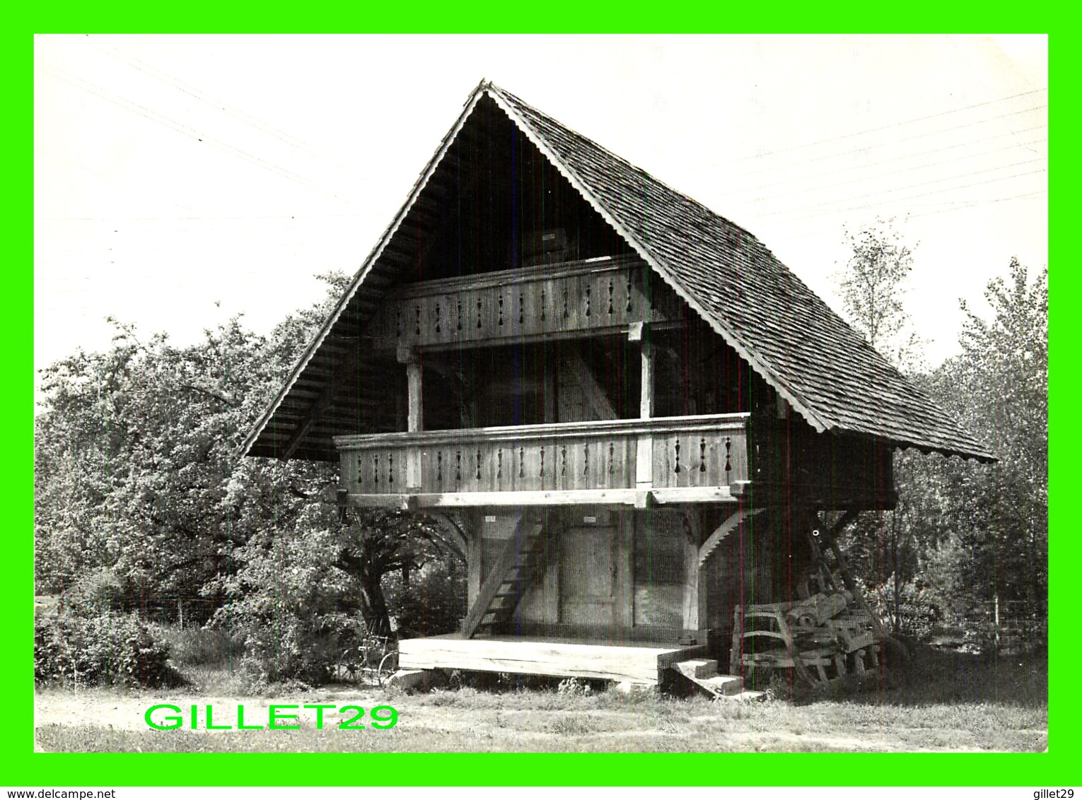
[[[754,236],[489,82],[481,82],[466,101],[406,204],[252,430],[246,452],[327,457],[325,449],[305,443],[302,427],[311,425],[311,416],[306,423],[303,409],[320,402],[320,395],[327,399],[326,375],[335,370],[334,359],[349,349],[334,341],[347,342],[358,319],[378,302],[388,281],[377,279],[373,267],[484,97],[507,115],[654,271],[815,429],[993,458]],[[293,387],[306,376],[313,389],[324,386],[322,391],[292,397]]]

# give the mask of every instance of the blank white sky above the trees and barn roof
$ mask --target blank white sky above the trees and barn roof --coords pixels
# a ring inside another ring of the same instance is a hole
[[[935,364],[1011,256],[1047,263],[1047,39],[44,36],[35,362],[105,317],[267,332],[354,272],[481,78],[749,229],[834,308],[898,217]],[[901,218],[909,215],[908,222]]]

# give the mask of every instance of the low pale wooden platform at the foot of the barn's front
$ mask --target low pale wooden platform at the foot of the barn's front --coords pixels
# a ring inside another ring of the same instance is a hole
[[[701,644],[589,644],[516,637],[431,637],[399,641],[398,666],[401,669],[470,669],[656,684],[660,672],[670,665],[705,652],[705,645]]]

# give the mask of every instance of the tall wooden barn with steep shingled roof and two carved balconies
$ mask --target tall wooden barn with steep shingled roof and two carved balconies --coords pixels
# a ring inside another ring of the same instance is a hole
[[[715,692],[874,664],[832,534],[897,448],[991,458],[754,236],[489,82],[247,442],[457,532],[466,618],[403,668]]]

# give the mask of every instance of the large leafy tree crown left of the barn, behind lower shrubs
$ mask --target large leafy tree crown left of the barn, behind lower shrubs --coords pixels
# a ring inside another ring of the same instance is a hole
[[[187,347],[115,322],[107,352],[77,351],[44,370],[35,449],[41,589],[105,570],[143,611],[194,598],[235,571],[235,549],[254,531],[289,524],[318,496],[332,469],[241,462],[238,449],[330,302],[269,337],[235,318]]]

